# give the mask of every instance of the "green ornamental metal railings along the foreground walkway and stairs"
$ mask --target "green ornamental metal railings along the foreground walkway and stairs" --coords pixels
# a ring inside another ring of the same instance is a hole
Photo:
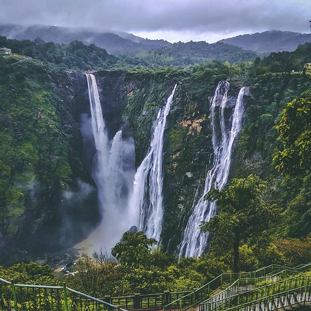
[[[266,288],[269,288],[269,290],[273,289],[274,287],[272,287],[272,285],[275,284],[280,284],[277,285],[280,288],[276,291],[287,290],[293,286],[309,286],[310,281],[301,283],[302,276],[300,276],[297,283],[291,285],[286,283],[288,285],[286,285],[287,287],[281,285],[284,281],[267,285],[265,287],[265,292],[262,292],[263,287],[258,287],[258,283],[263,280],[276,281],[276,278],[280,276],[285,276],[286,274],[297,275],[298,273],[308,270],[311,270],[311,263],[299,265],[295,268],[271,265],[254,272],[223,273],[206,285],[191,291],[169,292],[167,290],[159,294],[140,295],[136,293],[132,296],[122,297],[110,297],[107,295],[101,299],[72,290],[68,288],[66,284],[63,286],[25,285],[15,284],[13,281],[9,282],[0,278],[0,311],[126,311],[128,309],[162,308],[164,308],[164,310],[183,311],[199,302],[201,302],[201,311],[209,311],[217,307],[221,307],[221,309],[230,308],[235,304],[243,304],[252,299],[254,300],[262,296],[272,295],[274,293],[273,290],[267,292]],[[309,276],[304,276],[304,282],[307,278],[310,280]],[[297,280],[297,277],[291,279]],[[227,289],[216,293],[216,290],[220,290],[224,287],[227,287]],[[258,288],[255,289],[255,287]],[[240,293],[241,291],[244,292]],[[212,298],[212,300],[209,302],[204,301],[209,296],[212,296],[209,298]],[[202,301],[204,302],[202,303]],[[208,305],[208,303],[210,304]]]

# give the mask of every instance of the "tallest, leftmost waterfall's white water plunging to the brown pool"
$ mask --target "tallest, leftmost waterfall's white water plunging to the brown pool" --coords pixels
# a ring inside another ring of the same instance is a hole
[[[100,105],[96,78],[86,74],[91,108],[92,133],[95,142],[92,177],[98,190],[98,203],[102,214],[100,225],[90,236],[78,244],[87,251],[106,248],[110,251],[129,229],[127,215],[128,200],[122,194],[133,180],[133,172],[123,168],[123,156],[131,153],[131,145],[123,141],[122,131],[118,131],[110,142]]]

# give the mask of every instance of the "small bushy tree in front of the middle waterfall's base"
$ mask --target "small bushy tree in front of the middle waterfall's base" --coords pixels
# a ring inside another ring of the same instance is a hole
[[[125,232],[111,254],[125,266],[146,264],[150,260],[152,248],[158,244],[156,239],[148,239],[142,231]]]

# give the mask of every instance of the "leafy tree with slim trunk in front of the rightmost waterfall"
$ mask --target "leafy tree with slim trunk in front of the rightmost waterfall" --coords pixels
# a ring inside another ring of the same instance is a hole
[[[267,206],[263,201],[266,192],[267,184],[251,174],[234,178],[223,189],[213,188],[204,196],[205,200],[217,202],[218,213],[202,223],[200,230],[215,234],[212,243],[233,248],[234,272],[239,271],[240,242],[260,240],[276,216],[275,206]]]

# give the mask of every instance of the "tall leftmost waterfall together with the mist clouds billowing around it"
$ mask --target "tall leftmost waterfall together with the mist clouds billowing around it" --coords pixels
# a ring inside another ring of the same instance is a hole
[[[101,248],[109,253],[131,227],[128,197],[135,174],[134,140],[123,139],[122,130],[109,139],[95,76],[86,74],[91,116],[81,115],[84,159],[98,191],[101,220],[97,228],[77,248],[93,253]]]

